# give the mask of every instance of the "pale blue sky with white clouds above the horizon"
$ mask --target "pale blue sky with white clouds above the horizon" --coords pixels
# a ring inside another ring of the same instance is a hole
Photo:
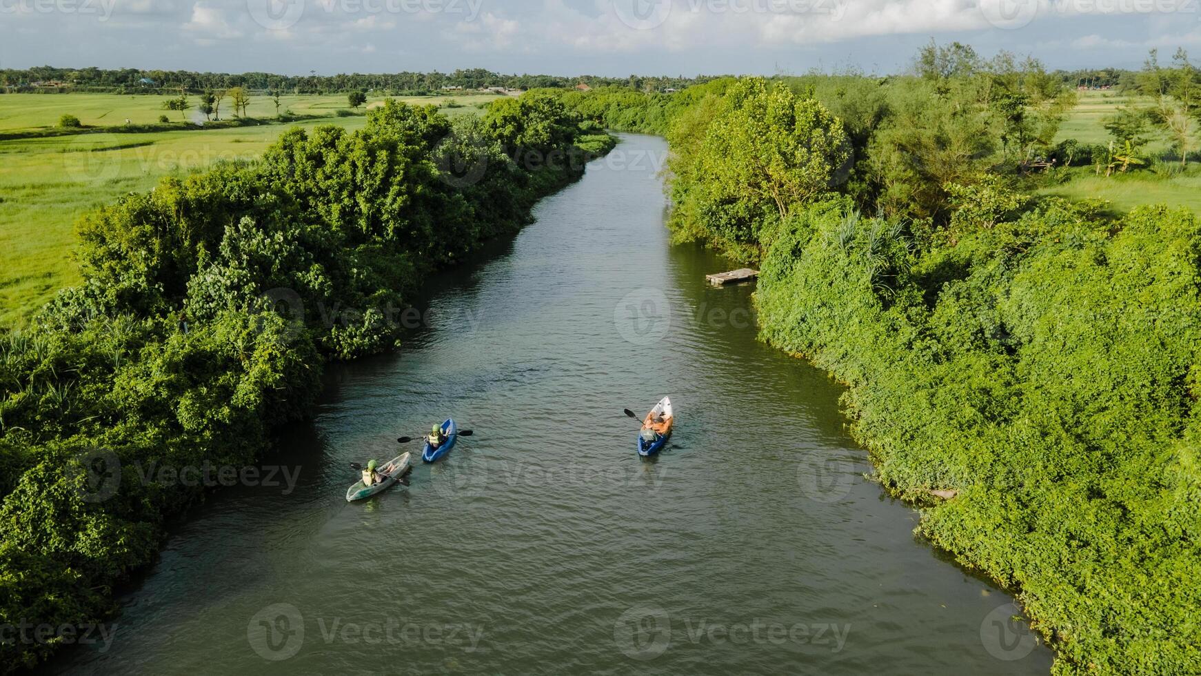
[[[13,68],[894,73],[931,38],[1052,68],[1201,59],[1201,0],[0,0]]]

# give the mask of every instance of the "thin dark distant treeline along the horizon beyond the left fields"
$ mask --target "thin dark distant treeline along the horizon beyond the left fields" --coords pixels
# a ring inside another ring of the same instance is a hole
[[[12,90],[46,91],[72,89],[78,91],[119,94],[161,94],[165,91],[199,92],[204,90],[243,86],[258,91],[282,94],[336,94],[345,91],[378,91],[400,95],[441,91],[447,86],[483,89],[567,88],[585,83],[590,86],[628,86],[639,91],[663,91],[706,82],[712,78],[683,76],[608,78],[599,76],[531,76],[502,74],[484,68],[458,70],[453,73],[340,73],[336,76],[280,76],[273,73],[198,73],[191,71],[161,71],[138,68],[56,68],[38,66],[26,70],[0,71],[0,85]]]

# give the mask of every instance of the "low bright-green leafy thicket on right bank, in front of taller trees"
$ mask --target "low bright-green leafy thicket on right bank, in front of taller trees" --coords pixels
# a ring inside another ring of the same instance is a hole
[[[1196,672],[1201,222],[956,216],[927,250],[814,205],[764,259],[764,337],[850,384],[890,490],[960,492],[921,532],[1020,592],[1058,671]]]

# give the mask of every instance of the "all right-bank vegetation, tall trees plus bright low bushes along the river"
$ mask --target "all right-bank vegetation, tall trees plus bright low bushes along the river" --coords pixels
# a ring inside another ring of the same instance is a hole
[[[1057,674],[1201,672],[1201,221],[1022,195],[1071,97],[1036,62],[915,70],[564,101],[667,133],[676,238],[761,267],[764,340],[849,385],[879,481]]]

